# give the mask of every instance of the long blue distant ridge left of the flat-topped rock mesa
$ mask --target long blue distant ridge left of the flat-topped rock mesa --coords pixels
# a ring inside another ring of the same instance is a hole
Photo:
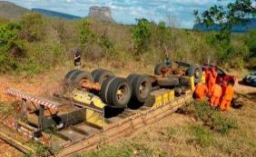
[[[64,13],[54,12],[54,11],[40,9],[40,8],[33,8],[31,11],[35,12],[35,13],[40,13],[42,15],[49,16],[49,17],[59,17],[59,18],[64,18],[64,19],[69,19],[69,20],[77,20],[77,19],[82,18],[82,17],[76,16],[76,15],[67,15]]]

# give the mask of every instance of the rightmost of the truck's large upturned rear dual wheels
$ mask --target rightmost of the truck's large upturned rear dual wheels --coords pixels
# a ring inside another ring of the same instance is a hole
[[[133,80],[133,82],[130,83],[132,87],[131,100],[134,103],[144,103],[152,90],[152,83],[150,82],[149,76],[133,75],[131,80]]]

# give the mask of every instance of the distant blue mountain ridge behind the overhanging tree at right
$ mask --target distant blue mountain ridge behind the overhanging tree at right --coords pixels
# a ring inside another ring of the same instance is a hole
[[[198,31],[220,31],[221,30],[221,25],[212,25],[210,27],[207,27],[204,24],[195,24],[193,25],[193,30],[198,30]],[[244,33],[248,32],[252,29],[256,29],[256,18],[251,18],[248,20],[248,22],[240,24],[240,25],[234,25],[232,27],[232,32],[233,33]]]

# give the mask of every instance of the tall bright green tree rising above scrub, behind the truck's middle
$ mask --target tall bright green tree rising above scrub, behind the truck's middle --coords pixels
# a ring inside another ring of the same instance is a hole
[[[143,51],[147,50],[149,44],[149,38],[151,36],[150,32],[150,22],[145,19],[136,19],[137,25],[133,29],[133,42],[134,48],[137,54],[142,54]]]

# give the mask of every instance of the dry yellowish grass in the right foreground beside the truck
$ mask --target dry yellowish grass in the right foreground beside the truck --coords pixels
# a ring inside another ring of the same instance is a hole
[[[128,139],[121,139],[112,146],[84,156],[108,156],[109,150],[112,150],[111,153],[118,150],[117,154],[123,154],[127,148],[131,148],[128,150],[130,156],[255,156],[256,105],[250,100],[244,101],[247,105],[240,110],[221,113],[237,120],[238,128],[230,132],[222,134],[212,131],[201,121],[194,122],[190,116],[174,113]],[[147,150],[150,150],[149,153]]]

